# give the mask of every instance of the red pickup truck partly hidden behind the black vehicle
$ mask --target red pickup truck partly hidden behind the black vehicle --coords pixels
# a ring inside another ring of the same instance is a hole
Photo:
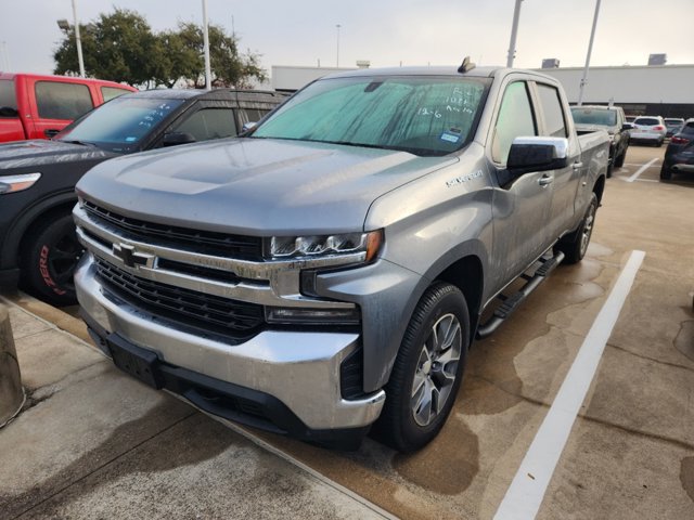
[[[0,73],[0,142],[49,139],[132,87],[100,79]]]

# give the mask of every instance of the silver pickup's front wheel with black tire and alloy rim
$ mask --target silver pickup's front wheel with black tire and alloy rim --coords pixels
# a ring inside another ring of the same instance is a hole
[[[450,284],[434,283],[414,309],[385,387],[386,402],[374,427],[377,439],[409,453],[438,434],[455,401],[468,343],[465,297]]]

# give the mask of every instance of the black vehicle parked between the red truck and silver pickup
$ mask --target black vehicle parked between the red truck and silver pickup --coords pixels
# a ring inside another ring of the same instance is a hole
[[[72,209],[87,170],[123,154],[236,135],[284,99],[232,90],[137,92],[90,112],[51,141],[0,144],[0,287],[21,281],[44,300],[72,302],[82,250]]]

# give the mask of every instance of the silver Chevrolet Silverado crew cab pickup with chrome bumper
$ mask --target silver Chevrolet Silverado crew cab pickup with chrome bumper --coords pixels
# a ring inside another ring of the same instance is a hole
[[[541,74],[333,75],[246,136],[87,173],[82,315],[118,367],[206,412],[413,451],[471,341],[586,253],[607,154]]]

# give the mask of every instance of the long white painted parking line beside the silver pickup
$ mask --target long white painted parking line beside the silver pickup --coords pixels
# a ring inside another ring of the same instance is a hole
[[[631,251],[625,269],[576,354],[511,486],[506,490],[494,520],[531,520],[536,517],[576,416],[597,370],[605,344],[645,255],[643,251]]]

